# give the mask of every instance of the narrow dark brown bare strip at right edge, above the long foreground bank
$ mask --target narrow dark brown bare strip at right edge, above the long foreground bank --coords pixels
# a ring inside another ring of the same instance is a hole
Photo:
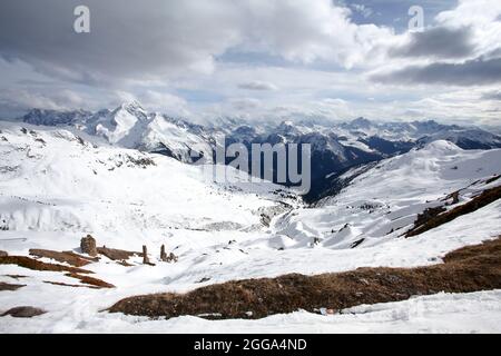
[[[405,237],[416,236],[423,234],[428,230],[434,229],[443,224],[454,220],[455,218],[473,212],[484,206],[501,199],[501,186],[485,189],[479,196],[474,197],[466,204],[463,204],[454,209],[440,214],[440,211],[433,211],[436,214],[430,214],[430,216],[424,218],[418,218],[413,229],[405,234]]]

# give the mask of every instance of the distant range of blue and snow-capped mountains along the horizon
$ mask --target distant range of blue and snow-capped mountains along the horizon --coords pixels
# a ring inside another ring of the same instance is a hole
[[[350,122],[315,120],[272,123],[236,119],[200,126],[157,112],[147,112],[138,102],[115,110],[55,111],[33,109],[18,120],[30,125],[71,126],[101,137],[114,146],[139,149],[193,164],[214,161],[217,146],[252,144],[311,144],[312,190],[307,201],[336,191],[338,177],[351,168],[401,155],[436,140],[462,149],[501,148],[501,137],[480,128],[442,125],[434,120],[375,122],[357,118]],[[225,140],[223,140],[225,138]],[[252,157],[249,157],[252,161]]]

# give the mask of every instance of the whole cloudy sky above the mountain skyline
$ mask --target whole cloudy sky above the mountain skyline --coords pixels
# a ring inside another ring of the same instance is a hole
[[[3,118],[138,100],[194,120],[499,126],[501,1],[2,0],[0,78]]]

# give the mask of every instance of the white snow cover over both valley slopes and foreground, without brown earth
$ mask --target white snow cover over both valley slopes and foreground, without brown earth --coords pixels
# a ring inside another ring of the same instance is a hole
[[[0,130],[0,250],[22,256],[30,248],[79,253],[80,238],[91,234],[98,246],[139,250],[147,245],[156,264],[144,265],[134,257],[130,266],[124,266],[101,256],[86,266],[95,277],[116,286],[111,289],[65,286],[78,281],[60,273],[0,265],[1,283],[26,276],[26,287],[0,293],[0,313],[20,305],[48,312],[32,319],[1,317],[2,332],[238,332],[246,327],[276,332],[278,323],[284,332],[327,330],[343,324],[355,330],[371,320],[397,332],[394,327],[403,322],[394,315],[412,319],[420,305],[433,313],[443,308],[444,330],[495,330],[478,324],[459,328],[454,322],[475,317],[492,323],[501,317],[498,291],[361,306],[353,313],[366,310],[364,317],[321,320],[304,312],[256,322],[196,317],[154,322],[102,312],[128,296],[186,291],[233,279],[439,264],[451,250],[501,235],[501,200],[419,236],[400,236],[425,208],[452,204],[451,192],[462,189],[459,201],[449,208],[500,185],[493,175],[501,172],[501,150],[462,150],[448,141],[432,142],[379,162],[338,196],[306,208],[272,184],[214,184],[204,178],[204,166],[116,147],[78,128],[1,122]],[[178,263],[159,260],[164,244]],[[454,300],[472,309],[458,307]],[[489,318],[481,312],[485,308]],[[421,316],[432,323],[433,313]],[[407,330],[423,327],[418,320],[406,325]]]

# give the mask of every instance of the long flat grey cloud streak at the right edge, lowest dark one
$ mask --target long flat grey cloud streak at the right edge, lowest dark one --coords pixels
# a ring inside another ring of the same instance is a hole
[[[479,58],[464,63],[409,66],[390,73],[373,75],[371,79],[383,83],[492,85],[501,82],[501,58]]]

